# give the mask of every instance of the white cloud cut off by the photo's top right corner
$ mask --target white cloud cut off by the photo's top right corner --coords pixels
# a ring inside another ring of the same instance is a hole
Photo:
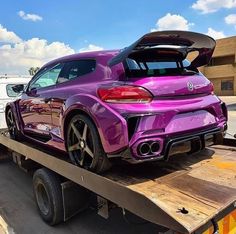
[[[197,0],[192,8],[203,14],[216,12],[221,8],[231,9],[236,7],[236,0]]]

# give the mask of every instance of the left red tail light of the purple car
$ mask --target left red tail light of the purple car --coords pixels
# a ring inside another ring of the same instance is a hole
[[[104,102],[147,103],[152,101],[152,95],[146,89],[138,86],[99,88],[98,95]]]

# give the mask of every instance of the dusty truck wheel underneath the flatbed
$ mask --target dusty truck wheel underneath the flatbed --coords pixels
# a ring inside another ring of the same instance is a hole
[[[42,219],[49,225],[63,221],[63,199],[59,176],[47,168],[38,169],[33,176],[33,190]]]

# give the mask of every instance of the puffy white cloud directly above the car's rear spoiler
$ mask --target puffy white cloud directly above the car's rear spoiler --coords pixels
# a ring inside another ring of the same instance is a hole
[[[151,29],[151,31],[189,30],[193,25],[193,23],[189,23],[188,20],[181,15],[167,13],[164,17],[158,19],[156,28]]]

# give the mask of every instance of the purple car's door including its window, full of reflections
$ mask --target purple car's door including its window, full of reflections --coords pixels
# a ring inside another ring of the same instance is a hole
[[[19,106],[26,135],[34,134],[34,138],[49,140],[52,91],[62,67],[63,64],[60,63],[43,69],[31,80],[23,93]]]

